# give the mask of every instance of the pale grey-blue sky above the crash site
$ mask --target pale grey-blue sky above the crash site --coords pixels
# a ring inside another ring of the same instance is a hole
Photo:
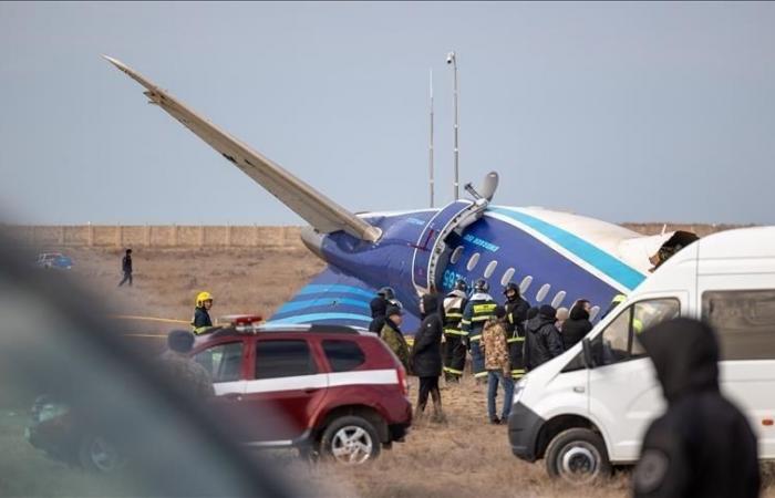
[[[438,201],[775,222],[775,3],[0,3],[0,206],[21,222],[301,219],[100,54],[353,210]]]

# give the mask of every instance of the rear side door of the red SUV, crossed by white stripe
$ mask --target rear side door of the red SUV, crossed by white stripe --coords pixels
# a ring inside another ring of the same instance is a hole
[[[290,445],[306,436],[328,387],[313,345],[303,338],[255,342],[252,378],[246,383],[244,403],[260,418],[252,424],[250,442]]]

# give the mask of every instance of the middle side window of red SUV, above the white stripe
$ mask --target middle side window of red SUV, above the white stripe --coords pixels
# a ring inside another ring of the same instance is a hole
[[[256,378],[291,377],[318,372],[304,340],[271,340],[256,343]]]

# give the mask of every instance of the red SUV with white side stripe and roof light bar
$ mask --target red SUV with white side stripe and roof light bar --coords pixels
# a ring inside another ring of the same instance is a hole
[[[190,354],[213,376],[218,412],[250,421],[235,428],[248,446],[361,464],[412,423],[406,372],[373,333],[238,320],[198,338]]]

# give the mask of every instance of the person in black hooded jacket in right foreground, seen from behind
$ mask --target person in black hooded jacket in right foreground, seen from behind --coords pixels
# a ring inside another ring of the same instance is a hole
[[[636,497],[758,496],[756,437],[719,391],[713,330],[675,319],[639,336],[651,356],[668,411],[652,422],[632,475]]]

